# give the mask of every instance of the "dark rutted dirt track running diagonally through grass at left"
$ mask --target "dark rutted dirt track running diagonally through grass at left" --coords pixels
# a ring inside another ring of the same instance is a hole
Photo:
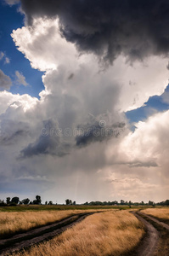
[[[58,236],[93,213],[95,212],[76,214],[55,224],[48,224],[41,228],[3,239],[0,241],[0,255],[10,255],[10,253],[20,251],[23,248],[31,247],[39,242]]]

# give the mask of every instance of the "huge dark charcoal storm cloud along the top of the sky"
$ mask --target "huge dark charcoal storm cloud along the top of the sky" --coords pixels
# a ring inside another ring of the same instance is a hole
[[[104,61],[168,55],[168,0],[21,0],[21,7],[29,24],[58,15],[65,38]]]

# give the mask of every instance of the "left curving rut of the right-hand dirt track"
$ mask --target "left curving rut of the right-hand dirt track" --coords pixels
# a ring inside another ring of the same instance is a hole
[[[160,241],[160,233],[155,229],[155,227],[150,224],[147,220],[143,217],[138,215],[138,212],[132,212],[132,214],[140,220],[147,231],[147,234],[142,241],[142,243],[136,249],[137,256],[153,256],[155,255],[155,251],[159,245]]]

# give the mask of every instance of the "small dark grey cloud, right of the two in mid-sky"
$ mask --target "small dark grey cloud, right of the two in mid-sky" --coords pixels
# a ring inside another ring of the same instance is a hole
[[[95,121],[93,124],[78,125],[77,128],[82,134],[76,136],[76,146],[84,147],[90,143],[102,142],[109,140],[111,137],[118,137],[124,126],[125,123],[123,122],[106,125],[104,120]]]

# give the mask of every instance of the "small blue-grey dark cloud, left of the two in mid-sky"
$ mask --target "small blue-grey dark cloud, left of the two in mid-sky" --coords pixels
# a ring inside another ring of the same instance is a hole
[[[57,123],[53,119],[48,119],[43,121],[43,125],[41,135],[37,141],[21,150],[21,158],[40,154],[51,154],[60,157],[69,154],[70,145],[62,141]]]

